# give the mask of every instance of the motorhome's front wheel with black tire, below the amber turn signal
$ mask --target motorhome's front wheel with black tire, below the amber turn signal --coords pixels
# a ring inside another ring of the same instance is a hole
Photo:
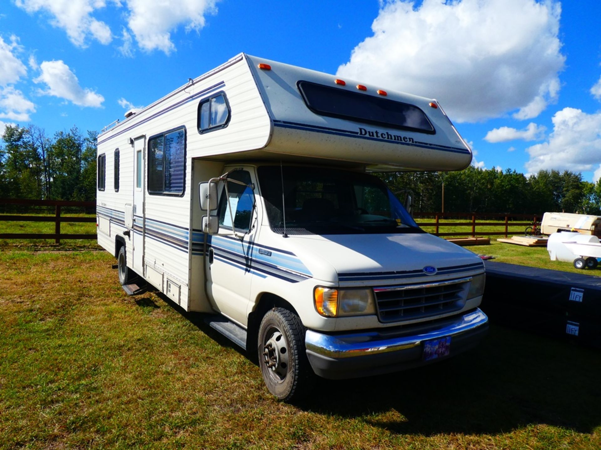
[[[259,326],[257,353],[263,381],[279,400],[297,400],[313,387],[305,327],[296,314],[284,308],[267,311]]]

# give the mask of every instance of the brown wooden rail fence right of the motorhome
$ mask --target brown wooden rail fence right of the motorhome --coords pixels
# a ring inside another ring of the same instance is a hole
[[[421,227],[435,227],[435,232],[432,233],[433,235],[436,236],[472,236],[475,237],[476,236],[476,228],[478,226],[482,227],[482,226],[486,226],[486,227],[503,227],[504,230],[503,231],[484,231],[481,232],[481,235],[486,235],[486,236],[505,236],[505,238],[508,237],[508,235],[518,235],[518,234],[523,234],[523,232],[510,232],[509,231],[509,227],[531,227],[532,229],[532,234],[538,234],[537,230],[540,229],[540,218],[542,218],[542,214],[494,214],[494,213],[482,213],[482,214],[475,214],[472,212],[451,212],[451,213],[443,213],[443,212],[416,212],[415,214],[413,214],[413,218],[415,218],[416,220],[418,218],[434,218],[434,222],[417,222],[417,224]],[[471,221],[469,222],[441,222],[441,219],[450,219],[450,218],[471,218]],[[502,218],[502,222],[477,222],[476,218],[479,218],[480,220],[486,220],[486,219],[501,219]],[[513,220],[520,220],[520,219],[531,219],[530,221],[526,222],[526,221],[513,221]],[[441,227],[460,227],[460,226],[471,226],[472,230],[471,232],[453,232],[453,233],[445,233],[445,232],[440,232],[439,229]]]

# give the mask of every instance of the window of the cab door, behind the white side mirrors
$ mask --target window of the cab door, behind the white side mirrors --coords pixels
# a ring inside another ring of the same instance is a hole
[[[243,182],[244,185],[228,181],[229,202],[227,201],[225,187],[223,188],[221,200],[219,201],[219,227],[231,230],[231,218],[233,216],[236,231],[248,233],[251,229],[252,208],[255,203],[254,193],[249,186],[251,184],[251,174],[247,170],[236,170],[236,172],[230,174],[229,179]]]

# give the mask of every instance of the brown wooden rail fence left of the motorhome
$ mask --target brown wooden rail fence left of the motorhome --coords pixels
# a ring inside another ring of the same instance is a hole
[[[19,222],[54,222],[54,233],[0,233],[0,239],[54,239],[55,244],[60,244],[61,239],[96,239],[96,233],[81,235],[61,233],[63,222],[96,223],[96,217],[69,217],[61,215],[62,208],[96,209],[96,202],[70,202],[67,200],[28,200],[28,199],[0,199],[1,205],[44,206],[54,207],[54,215],[17,215],[0,214],[0,221]]]

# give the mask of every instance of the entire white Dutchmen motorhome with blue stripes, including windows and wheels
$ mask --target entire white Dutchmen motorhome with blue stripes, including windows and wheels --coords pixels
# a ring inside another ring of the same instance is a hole
[[[414,367],[484,334],[481,259],[367,173],[471,158],[436,100],[242,53],[99,135],[98,242],[122,284],[207,313],[290,400],[313,373]]]

